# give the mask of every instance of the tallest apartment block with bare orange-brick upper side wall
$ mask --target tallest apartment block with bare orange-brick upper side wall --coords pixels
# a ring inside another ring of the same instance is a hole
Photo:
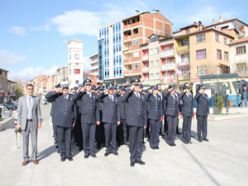
[[[143,12],[122,21],[124,76],[126,81],[142,77],[141,45],[152,34],[171,36],[172,23],[159,12]]]

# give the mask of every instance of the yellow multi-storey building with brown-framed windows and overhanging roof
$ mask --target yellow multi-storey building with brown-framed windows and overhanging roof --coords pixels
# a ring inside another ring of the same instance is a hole
[[[229,73],[228,44],[233,36],[198,23],[182,28],[174,38],[179,81],[194,82],[201,75]]]

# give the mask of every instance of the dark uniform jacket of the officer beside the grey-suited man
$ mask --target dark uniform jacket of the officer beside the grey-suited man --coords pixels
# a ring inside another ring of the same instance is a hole
[[[55,102],[52,115],[56,125],[66,128],[72,127],[77,116],[73,95],[68,94],[65,98],[61,93],[49,92],[46,98],[49,102]]]

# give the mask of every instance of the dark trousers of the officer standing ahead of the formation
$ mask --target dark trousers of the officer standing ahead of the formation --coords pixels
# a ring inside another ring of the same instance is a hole
[[[144,127],[128,126],[128,128],[130,161],[135,163],[135,161],[141,160],[142,157]]]

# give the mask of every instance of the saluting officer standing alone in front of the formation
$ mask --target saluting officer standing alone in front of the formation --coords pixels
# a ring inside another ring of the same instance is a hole
[[[140,81],[136,79],[131,88],[123,96],[123,101],[127,103],[127,125],[129,127],[129,152],[130,166],[135,163],[144,165],[142,161],[142,141],[144,126],[147,121],[147,109],[144,95],[140,93]]]

